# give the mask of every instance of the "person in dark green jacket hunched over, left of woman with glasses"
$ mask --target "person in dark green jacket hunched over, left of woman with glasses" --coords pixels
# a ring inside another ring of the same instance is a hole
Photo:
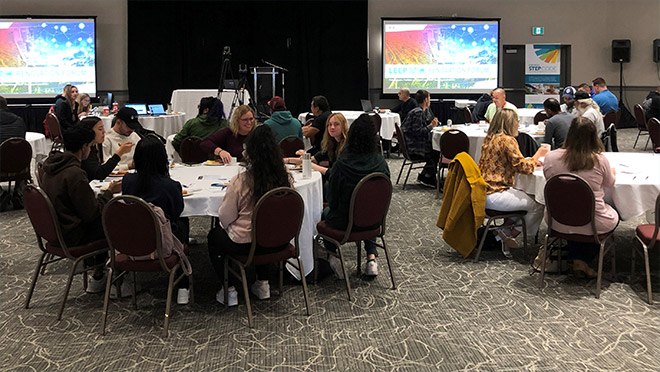
[[[181,131],[174,136],[172,146],[174,146],[176,152],[180,152],[181,143],[184,139],[190,136],[204,139],[228,125],[222,101],[215,97],[204,97],[199,102],[197,117],[186,122]]]

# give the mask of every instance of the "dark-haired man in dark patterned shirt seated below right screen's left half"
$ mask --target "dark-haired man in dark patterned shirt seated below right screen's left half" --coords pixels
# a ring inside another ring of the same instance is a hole
[[[439,154],[431,145],[431,129],[438,126],[438,118],[431,112],[431,95],[428,91],[420,89],[415,94],[417,107],[412,109],[406,121],[401,125],[403,135],[406,137],[406,146],[410,157],[417,160],[426,160],[424,170],[417,176],[417,180],[424,185],[435,187],[438,169]]]

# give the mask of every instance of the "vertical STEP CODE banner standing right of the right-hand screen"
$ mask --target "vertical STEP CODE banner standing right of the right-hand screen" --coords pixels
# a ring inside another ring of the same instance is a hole
[[[559,44],[525,46],[525,107],[543,108],[546,99],[559,100],[560,53]]]

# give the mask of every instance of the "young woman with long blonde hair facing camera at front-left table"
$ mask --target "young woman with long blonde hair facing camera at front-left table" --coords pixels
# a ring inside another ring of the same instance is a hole
[[[344,147],[346,137],[348,136],[348,121],[342,113],[336,112],[328,117],[325,127],[326,131],[321,141],[321,150],[312,156],[312,169],[324,176],[337,160]],[[300,150],[299,153],[302,156],[305,151]],[[284,158],[284,162],[287,164],[301,164],[302,157]]]

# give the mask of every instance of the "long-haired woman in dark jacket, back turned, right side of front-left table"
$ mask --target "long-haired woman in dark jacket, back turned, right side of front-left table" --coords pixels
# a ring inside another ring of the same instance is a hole
[[[344,150],[330,169],[328,206],[323,210],[322,218],[335,229],[344,230],[348,227],[348,212],[353,189],[362,178],[374,172],[390,175],[387,162],[377,151],[375,137],[374,125],[369,115],[360,115],[351,124]],[[333,250],[328,242],[326,242],[326,248]],[[376,245],[372,241],[366,240],[364,249],[367,251],[366,275],[378,275]],[[343,278],[344,274],[339,259],[330,256],[329,263],[335,275],[340,279]]]

